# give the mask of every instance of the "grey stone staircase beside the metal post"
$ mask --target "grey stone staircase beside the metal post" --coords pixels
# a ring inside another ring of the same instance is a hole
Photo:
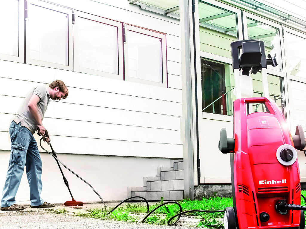
[[[144,177],[144,187],[128,187],[128,198],[142,196],[151,201],[160,201],[161,197],[164,200],[182,200],[184,197],[183,161],[171,160],[171,164],[173,167],[158,167],[157,176]]]

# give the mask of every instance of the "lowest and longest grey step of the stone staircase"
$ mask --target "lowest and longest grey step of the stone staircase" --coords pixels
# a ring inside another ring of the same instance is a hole
[[[160,201],[161,197],[164,200],[182,200],[184,190],[164,190],[164,191],[136,191],[131,192],[131,196],[142,196],[147,200]],[[137,198],[135,198],[136,200]],[[139,198],[139,200],[142,200]]]

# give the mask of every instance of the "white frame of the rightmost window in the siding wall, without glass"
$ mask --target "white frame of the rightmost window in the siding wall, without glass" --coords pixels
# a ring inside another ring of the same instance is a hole
[[[125,27],[125,45],[124,45],[125,80],[167,88],[168,87],[168,77],[167,77],[166,34],[155,32],[155,31],[148,30],[148,29],[145,29],[145,28],[140,28],[140,27],[133,26],[133,25],[130,25],[130,24],[125,24],[124,27]],[[129,71],[128,71],[128,66],[129,66],[128,55],[129,55],[129,53],[128,53],[128,45],[127,45],[128,42],[129,42],[129,38],[127,36],[128,30],[133,31],[133,32],[137,32],[137,33],[141,33],[143,35],[156,37],[156,38],[159,38],[159,39],[162,40],[162,83],[154,82],[154,81],[150,81],[150,80],[145,80],[145,79],[129,77]]]

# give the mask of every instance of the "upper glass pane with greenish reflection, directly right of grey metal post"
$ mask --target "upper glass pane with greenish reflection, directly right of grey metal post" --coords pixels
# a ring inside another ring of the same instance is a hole
[[[237,14],[199,1],[200,50],[231,58],[237,40]]]

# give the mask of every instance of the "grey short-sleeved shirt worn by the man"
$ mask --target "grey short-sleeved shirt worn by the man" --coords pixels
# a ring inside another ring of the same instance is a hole
[[[13,121],[15,121],[17,124],[21,122],[21,125],[28,128],[32,134],[35,133],[37,129],[37,122],[32,115],[31,111],[29,111],[28,103],[32,97],[32,95],[38,95],[40,100],[37,104],[38,107],[38,113],[41,117],[41,120],[43,120],[43,115],[45,114],[47,110],[47,106],[50,103],[49,102],[49,91],[45,86],[37,86],[35,87],[25,98],[23,104],[21,104],[21,107],[19,108],[17,115],[14,116]]]

